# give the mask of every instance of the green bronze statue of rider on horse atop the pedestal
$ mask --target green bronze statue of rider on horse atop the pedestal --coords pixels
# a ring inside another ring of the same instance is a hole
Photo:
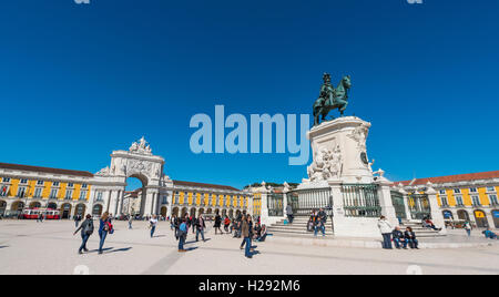
[[[344,76],[336,89],[330,83],[328,73],[324,74],[323,80],[319,98],[314,103],[314,126],[318,125],[320,121],[325,121],[332,110],[338,109],[343,116],[348,105],[348,90],[352,88],[350,75]]]

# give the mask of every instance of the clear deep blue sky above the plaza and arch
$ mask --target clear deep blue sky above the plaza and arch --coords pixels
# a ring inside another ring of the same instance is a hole
[[[194,155],[195,113],[348,114],[393,180],[499,170],[499,1],[16,0],[0,4],[0,162],[96,172],[145,135],[174,180],[299,182],[288,155]]]

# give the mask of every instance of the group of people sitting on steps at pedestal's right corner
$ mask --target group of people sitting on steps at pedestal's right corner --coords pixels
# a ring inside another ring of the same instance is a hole
[[[383,248],[393,249],[393,240],[397,249],[407,249],[407,246],[419,249],[419,242],[411,227],[407,227],[405,232],[403,232],[399,226],[394,228],[386,217],[381,216],[378,221],[378,228],[383,235]]]

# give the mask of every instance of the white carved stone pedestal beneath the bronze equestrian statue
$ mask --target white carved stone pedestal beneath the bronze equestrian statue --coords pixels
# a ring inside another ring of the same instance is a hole
[[[359,117],[345,116],[324,122],[307,133],[314,160],[307,168],[308,178],[298,186],[298,201],[310,208],[329,205],[337,237],[380,238],[379,216],[386,216],[394,227],[397,223],[390,183],[374,176],[368,161],[369,127],[370,123]],[[325,188],[330,193],[327,201]]]

